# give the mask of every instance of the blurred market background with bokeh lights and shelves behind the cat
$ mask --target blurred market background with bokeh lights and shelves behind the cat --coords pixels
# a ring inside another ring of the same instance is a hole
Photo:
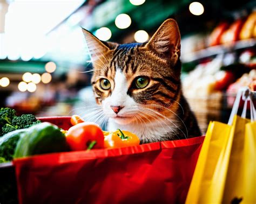
[[[0,0],[1,107],[93,121],[81,27],[101,40],[144,42],[172,16],[181,32],[183,92],[200,128],[226,123],[237,90],[256,90],[256,1],[192,2]]]

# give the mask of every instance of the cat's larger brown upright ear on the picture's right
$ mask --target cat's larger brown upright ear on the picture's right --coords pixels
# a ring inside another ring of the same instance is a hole
[[[159,54],[166,55],[173,64],[180,56],[180,32],[174,19],[167,19],[152,36],[146,47]]]

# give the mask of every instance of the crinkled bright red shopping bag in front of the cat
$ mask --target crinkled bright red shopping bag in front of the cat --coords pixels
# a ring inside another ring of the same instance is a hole
[[[14,160],[20,203],[184,203],[204,137]]]

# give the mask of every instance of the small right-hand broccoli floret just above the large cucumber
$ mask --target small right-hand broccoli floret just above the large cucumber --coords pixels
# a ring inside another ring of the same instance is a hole
[[[16,116],[12,119],[11,124],[13,126],[18,126],[18,129],[29,128],[32,125],[41,123],[35,116],[32,114],[23,114],[21,116]]]

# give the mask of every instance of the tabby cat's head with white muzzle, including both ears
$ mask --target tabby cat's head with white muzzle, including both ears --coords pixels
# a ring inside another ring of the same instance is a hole
[[[166,20],[146,44],[115,44],[83,30],[89,47],[96,102],[118,124],[171,115],[180,97],[180,33]]]

